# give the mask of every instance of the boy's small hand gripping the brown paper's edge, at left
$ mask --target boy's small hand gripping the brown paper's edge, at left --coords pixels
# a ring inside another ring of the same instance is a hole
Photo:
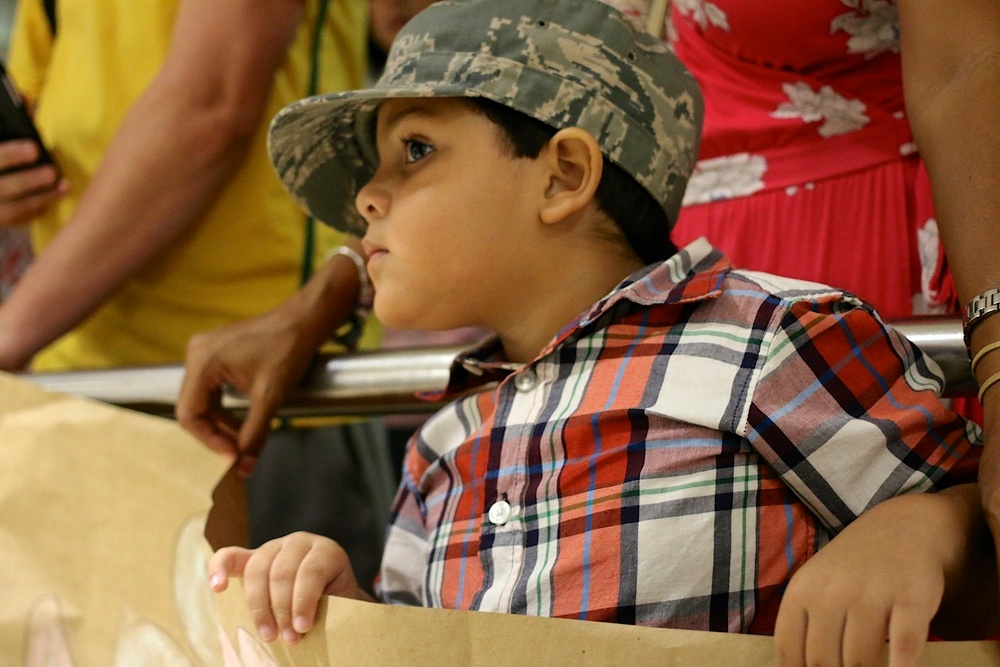
[[[212,590],[243,577],[250,616],[264,641],[297,643],[312,628],[320,596],[373,602],[354,579],[347,553],[333,540],[292,533],[257,549],[226,547],[208,564]]]

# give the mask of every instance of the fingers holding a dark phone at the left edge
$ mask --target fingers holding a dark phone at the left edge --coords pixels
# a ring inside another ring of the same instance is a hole
[[[0,142],[0,226],[26,223],[69,192],[54,166],[28,167],[37,159],[34,141]]]

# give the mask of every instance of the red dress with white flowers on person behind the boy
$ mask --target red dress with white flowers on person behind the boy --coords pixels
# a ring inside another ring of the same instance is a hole
[[[735,264],[846,288],[889,319],[953,307],[903,107],[888,0],[674,0],[705,97],[674,232]]]

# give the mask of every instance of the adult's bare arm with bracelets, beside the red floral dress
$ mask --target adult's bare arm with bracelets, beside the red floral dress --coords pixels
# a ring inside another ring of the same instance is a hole
[[[1000,288],[1000,2],[899,0],[907,112],[933,183],[934,208],[964,305]],[[1000,340],[1000,316],[974,331],[972,352]],[[986,355],[977,380],[1000,372]],[[980,490],[1000,540],[1000,389],[988,391]]]

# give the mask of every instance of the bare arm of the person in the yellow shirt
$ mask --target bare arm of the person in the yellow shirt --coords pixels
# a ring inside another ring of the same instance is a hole
[[[197,224],[242,162],[302,14],[301,0],[184,0],[163,68],[0,307],[0,369],[22,367]]]

